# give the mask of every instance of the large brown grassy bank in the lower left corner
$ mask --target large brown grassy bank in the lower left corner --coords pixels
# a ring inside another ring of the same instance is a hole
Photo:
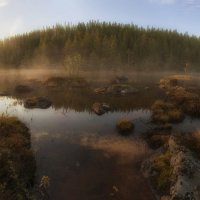
[[[32,199],[36,163],[28,128],[15,117],[0,117],[0,199]]]

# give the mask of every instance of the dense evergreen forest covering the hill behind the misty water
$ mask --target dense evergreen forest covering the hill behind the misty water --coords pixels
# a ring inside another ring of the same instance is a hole
[[[55,25],[0,41],[1,67],[198,70],[200,38],[106,22]]]

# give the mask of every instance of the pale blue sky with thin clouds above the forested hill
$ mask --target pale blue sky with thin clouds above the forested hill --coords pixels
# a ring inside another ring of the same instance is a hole
[[[200,0],[0,0],[0,38],[90,20],[200,36]]]

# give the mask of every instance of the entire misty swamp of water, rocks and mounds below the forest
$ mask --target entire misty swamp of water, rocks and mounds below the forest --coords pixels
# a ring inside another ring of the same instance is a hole
[[[199,198],[198,74],[106,74],[0,71],[3,199]]]

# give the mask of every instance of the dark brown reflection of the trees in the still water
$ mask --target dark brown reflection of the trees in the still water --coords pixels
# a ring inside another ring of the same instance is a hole
[[[95,95],[84,90],[49,93],[56,110],[63,108],[64,110],[73,109],[77,112],[90,112],[91,106],[95,102],[109,104],[111,111],[130,112],[137,109],[148,109],[155,99],[162,95],[162,92],[158,89],[141,91],[139,94],[128,96]]]

